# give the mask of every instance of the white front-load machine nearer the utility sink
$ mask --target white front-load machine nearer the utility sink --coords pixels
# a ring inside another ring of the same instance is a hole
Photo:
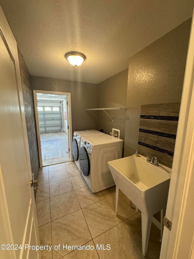
[[[110,135],[82,137],[79,163],[82,176],[92,193],[115,185],[108,162],[122,158],[123,140]]]

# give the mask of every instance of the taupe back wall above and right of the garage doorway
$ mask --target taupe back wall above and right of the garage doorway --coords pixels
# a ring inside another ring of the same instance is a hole
[[[31,77],[32,89],[71,93],[72,133],[96,129],[97,120],[85,109],[97,107],[97,85],[47,77]]]

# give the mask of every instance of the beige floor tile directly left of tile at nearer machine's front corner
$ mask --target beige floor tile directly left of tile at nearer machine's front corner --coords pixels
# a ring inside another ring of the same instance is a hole
[[[51,221],[81,209],[75,191],[55,196],[50,203]]]

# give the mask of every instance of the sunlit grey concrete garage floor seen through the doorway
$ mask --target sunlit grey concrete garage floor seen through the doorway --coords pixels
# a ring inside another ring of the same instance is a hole
[[[64,131],[41,133],[40,138],[43,166],[69,161],[68,136]]]

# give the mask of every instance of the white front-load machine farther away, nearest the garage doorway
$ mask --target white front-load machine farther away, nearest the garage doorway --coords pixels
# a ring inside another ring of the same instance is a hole
[[[72,142],[72,153],[75,164],[77,165],[79,171],[81,172],[79,165],[79,148],[80,148],[80,140],[83,136],[91,136],[91,135],[105,135],[97,130],[82,130],[82,131],[74,131],[73,133],[73,142]]]

